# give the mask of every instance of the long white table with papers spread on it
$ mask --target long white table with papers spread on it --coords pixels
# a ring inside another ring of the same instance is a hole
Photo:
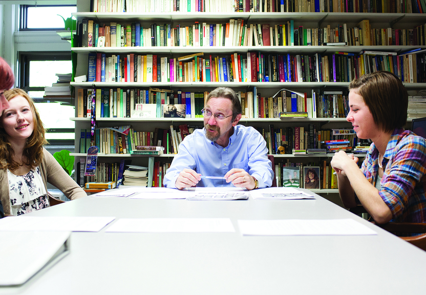
[[[230,218],[236,233],[72,233],[71,254],[0,294],[424,294],[426,252],[322,197],[82,198],[32,216]],[[375,236],[242,236],[238,219],[353,218]],[[2,254],[5,255],[5,254]],[[23,254],[16,263],[25,260]]]

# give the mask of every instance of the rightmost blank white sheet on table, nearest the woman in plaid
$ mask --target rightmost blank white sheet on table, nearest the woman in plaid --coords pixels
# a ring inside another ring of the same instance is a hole
[[[353,219],[238,220],[243,236],[377,235]]]

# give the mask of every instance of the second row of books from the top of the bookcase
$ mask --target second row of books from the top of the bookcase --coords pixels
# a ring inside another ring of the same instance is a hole
[[[413,29],[370,28],[368,19],[356,27],[346,24],[333,28],[304,28],[285,24],[246,24],[244,19],[230,19],[225,24],[195,22],[190,26],[110,23],[100,25],[91,19],[83,19],[79,32],[80,47],[211,47],[211,46],[322,46],[346,43],[350,46],[370,45],[426,45],[426,24]]]

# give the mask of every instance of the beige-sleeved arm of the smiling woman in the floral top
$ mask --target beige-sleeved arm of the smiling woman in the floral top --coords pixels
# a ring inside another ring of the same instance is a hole
[[[59,165],[56,159],[45,150],[44,173],[47,177],[47,182],[54,185],[70,200],[87,197],[86,192],[68,175],[65,170]]]

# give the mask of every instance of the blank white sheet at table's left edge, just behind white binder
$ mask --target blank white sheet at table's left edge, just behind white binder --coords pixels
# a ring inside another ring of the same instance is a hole
[[[0,219],[0,231],[99,231],[115,217],[10,216]]]

